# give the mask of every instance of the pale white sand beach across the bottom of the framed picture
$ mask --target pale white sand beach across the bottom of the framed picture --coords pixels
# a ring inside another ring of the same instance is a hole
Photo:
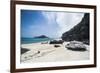
[[[22,48],[30,49],[30,51],[21,55],[21,62],[56,62],[56,61],[73,61],[73,60],[88,60],[88,51],[72,51],[65,48],[65,44],[59,44],[60,47],[54,47],[54,44],[23,44]],[[89,49],[89,46],[87,46]],[[40,53],[39,53],[40,52]]]

